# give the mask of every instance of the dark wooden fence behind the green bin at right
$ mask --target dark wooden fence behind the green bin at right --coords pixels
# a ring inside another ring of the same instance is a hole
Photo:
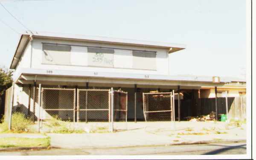
[[[178,117],[178,101],[175,100],[175,117]],[[228,118],[246,119],[246,96],[228,97]],[[218,114],[226,114],[226,98],[217,98]],[[201,116],[215,112],[215,98],[182,99],[180,100],[180,118]]]

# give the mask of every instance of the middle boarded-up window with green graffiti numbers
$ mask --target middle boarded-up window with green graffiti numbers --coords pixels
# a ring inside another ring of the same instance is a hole
[[[88,47],[88,66],[114,67],[114,49]]]

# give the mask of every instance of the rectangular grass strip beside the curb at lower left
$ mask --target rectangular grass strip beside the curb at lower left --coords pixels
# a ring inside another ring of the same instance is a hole
[[[0,147],[48,147],[50,137],[47,138],[23,138],[23,137],[6,137],[0,138]]]

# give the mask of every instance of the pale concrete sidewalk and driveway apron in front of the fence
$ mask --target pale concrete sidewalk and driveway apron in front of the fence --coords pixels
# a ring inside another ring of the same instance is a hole
[[[114,133],[47,135],[51,137],[52,147],[56,148],[115,148],[246,141],[246,129],[242,127],[231,126],[226,130],[224,123],[218,123],[207,129],[202,126],[209,124],[198,122],[195,128],[187,128],[182,127],[184,124],[186,123],[177,122],[175,131],[172,128],[147,127]]]

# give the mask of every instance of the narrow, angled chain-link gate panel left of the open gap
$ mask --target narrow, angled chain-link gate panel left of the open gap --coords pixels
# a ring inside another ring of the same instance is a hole
[[[127,92],[113,91],[113,130],[127,130]]]

